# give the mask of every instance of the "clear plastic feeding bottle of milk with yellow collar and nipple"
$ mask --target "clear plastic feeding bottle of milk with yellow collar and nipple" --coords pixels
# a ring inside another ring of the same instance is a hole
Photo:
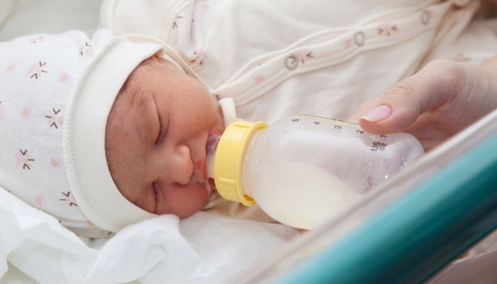
[[[407,133],[291,116],[236,121],[207,139],[207,171],[226,200],[257,204],[278,222],[312,229],[424,155]]]

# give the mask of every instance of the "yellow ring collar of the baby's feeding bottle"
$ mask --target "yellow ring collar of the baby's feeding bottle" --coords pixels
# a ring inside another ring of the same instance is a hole
[[[256,131],[266,129],[264,121],[235,121],[224,131],[217,144],[214,158],[214,182],[217,192],[225,199],[241,202],[245,206],[256,204],[253,198],[244,195],[241,185],[241,166],[249,142]]]

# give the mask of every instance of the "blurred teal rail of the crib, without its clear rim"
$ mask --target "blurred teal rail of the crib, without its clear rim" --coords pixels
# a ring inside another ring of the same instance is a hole
[[[497,135],[275,283],[422,283],[497,225]]]

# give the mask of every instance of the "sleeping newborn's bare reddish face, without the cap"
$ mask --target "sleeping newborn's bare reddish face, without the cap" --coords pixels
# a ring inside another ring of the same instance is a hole
[[[112,106],[105,135],[109,170],[124,197],[155,214],[187,217],[208,200],[209,133],[222,133],[217,103],[170,62],[149,58]]]

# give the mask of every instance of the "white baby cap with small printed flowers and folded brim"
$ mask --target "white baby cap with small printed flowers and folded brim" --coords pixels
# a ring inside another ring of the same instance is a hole
[[[105,29],[0,44],[0,187],[72,228],[116,232],[155,217],[121,195],[104,141],[119,89],[162,49]]]

